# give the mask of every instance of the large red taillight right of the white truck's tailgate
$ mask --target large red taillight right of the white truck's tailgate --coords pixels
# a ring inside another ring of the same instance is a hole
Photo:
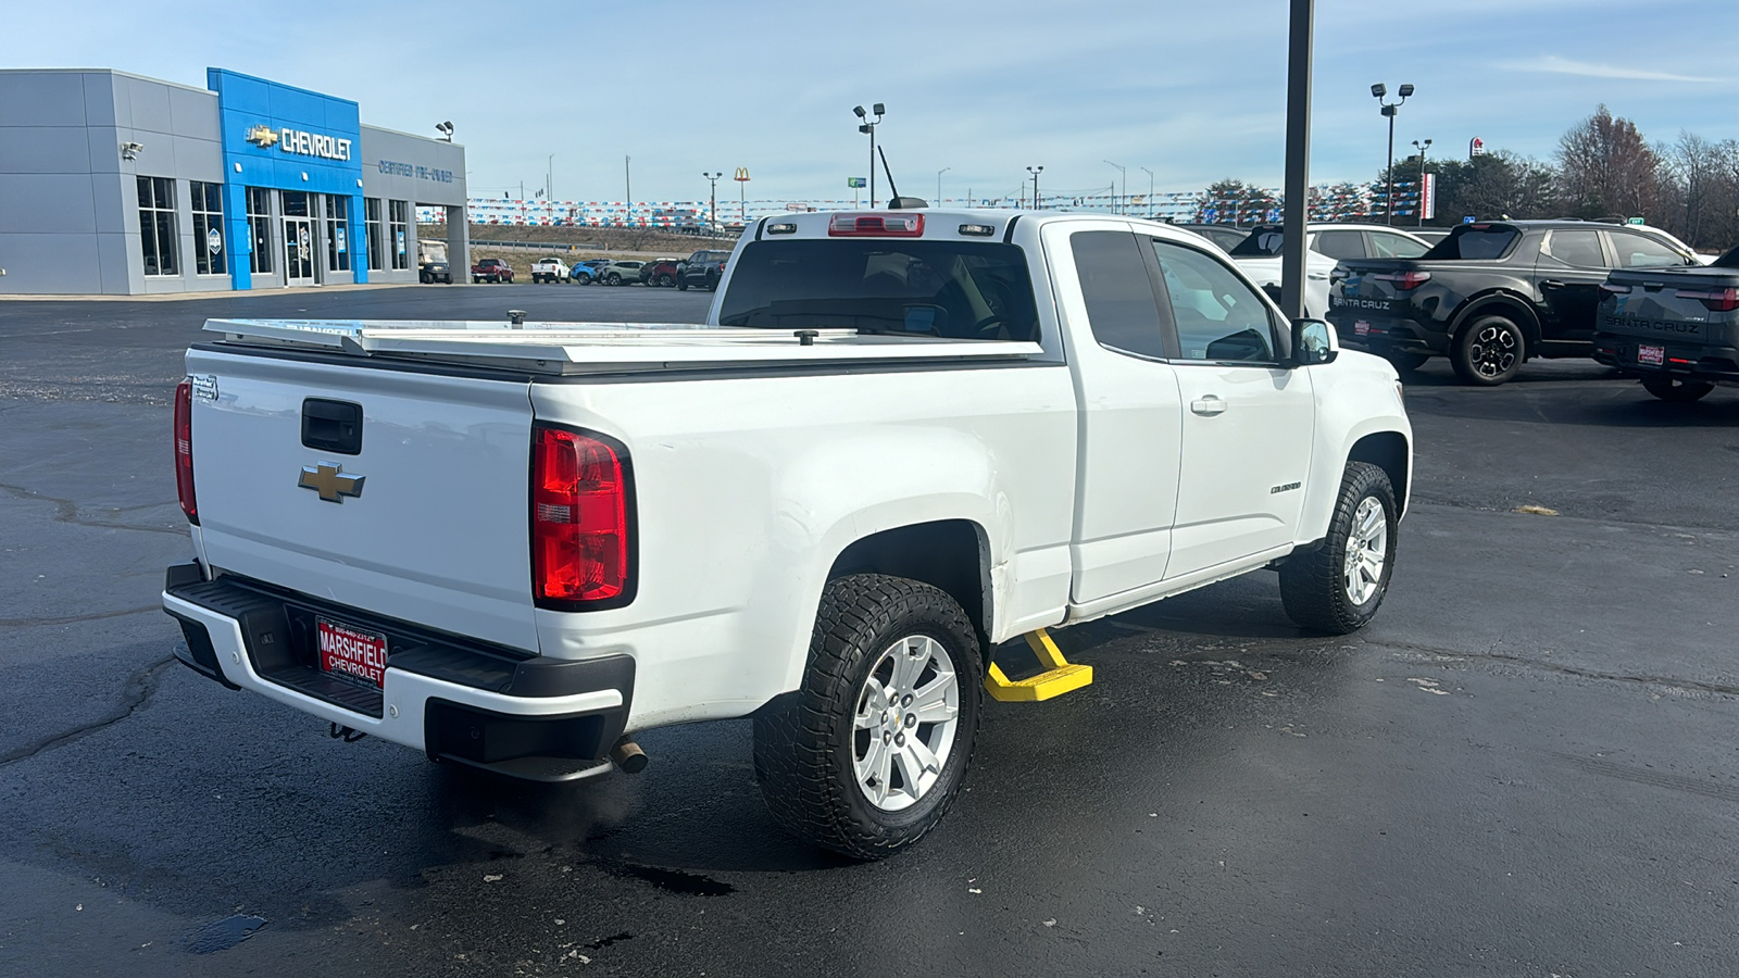
[[[626,456],[600,437],[532,428],[532,588],[539,606],[577,611],[633,597]]]

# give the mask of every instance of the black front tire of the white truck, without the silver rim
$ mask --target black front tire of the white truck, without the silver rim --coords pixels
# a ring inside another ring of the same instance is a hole
[[[1376,499],[1383,506],[1383,557],[1376,579],[1365,574],[1358,585],[1374,585],[1374,590],[1363,600],[1355,600],[1355,595],[1348,593],[1353,586],[1348,583],[1348,546],[1355,541],[1353,522],[1365,499]],[[1389,486],[1388,473],[1367,461],[1346,463],[1329,536],[1315,550],[1294,553],[1280,564],[1280,602],[1287,609],[1287,618],[1330,635],[1363,628],[1383,604],[1383,595],[1389,592],[1389,576],[1395,574],[1396,524],[1395,487]]]

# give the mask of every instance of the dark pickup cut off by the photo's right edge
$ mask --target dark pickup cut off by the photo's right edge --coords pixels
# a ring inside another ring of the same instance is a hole
[[[1739,386],[1739,247],[1694,268],[1621,268],[1600,285],[1595,360],[1661,400]]]

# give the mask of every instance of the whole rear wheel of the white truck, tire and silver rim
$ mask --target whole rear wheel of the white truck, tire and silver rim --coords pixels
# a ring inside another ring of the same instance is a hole
[[[948,813],[977,738],[977,635],[946,592],[885,574],[828,583],[803,686],[755,717],[755,778],[779,825],[859,860]]]

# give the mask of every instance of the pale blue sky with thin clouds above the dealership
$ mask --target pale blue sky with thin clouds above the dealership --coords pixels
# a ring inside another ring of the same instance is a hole
[[[400,3],[0,0],[0,66],[115,68],[205,87],[219,66],[355,99],[435,136],[473,197],[850,200],[878,143],[908,197],[1280,186],[1287,0]],[[1372,179],[1433,139],[1551,158],[1607,104],[1645,137],[1739,137],[1734,0],[1316,0],[1311,183]],[[1729,94],[1722,94],[1729,92]],[[551,160],[553,155],[553,160]],[[1118,172],[1111,164],[1122,164]],[[939,172],[941,171],[941,172]],[[878,174],[880,183],[880,174]],[[885,183],[882,186],[885,197]]]

